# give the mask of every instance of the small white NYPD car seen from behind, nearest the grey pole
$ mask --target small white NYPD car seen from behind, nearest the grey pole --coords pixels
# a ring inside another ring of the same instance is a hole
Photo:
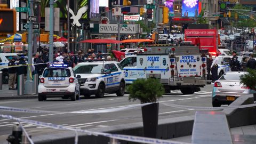
[[[79,99],[79,83],[73,69],[68,65],[49,64],[39,78],[38,101],[46,100],[47,97],[70,98],[73,101]]]

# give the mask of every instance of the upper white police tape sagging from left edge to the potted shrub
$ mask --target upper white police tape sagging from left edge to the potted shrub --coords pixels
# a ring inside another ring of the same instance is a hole
[[[131,110],[138,107],[143,107],[146,105],[150,105],[151,103],[143,103],[143,104],[135,104],[135,105],[129,105],[129,106],[118,106],[113,108],[99,108],[99,109],[91,109],[91,110],[80,110],[80,111],[71,111],[71,112],[65,112],[71,113],[71,114],[97,114],[97,113],[113,113],[116,111],[122,111],[122,110]],[[20,113],[51,113],[51,114],[57,114],[57,113],[63,113],[61,111],[46,111],[46,110],[33,110],[33,109],[23,109],[23,108],[14,108],[14,107],[3,107],[0,106],[0,110],[4,111],[12,111],[12,112],[20,112]]]

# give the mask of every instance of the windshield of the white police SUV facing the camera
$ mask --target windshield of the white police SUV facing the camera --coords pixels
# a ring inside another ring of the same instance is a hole
[[[102,65],[77,65],[74,68],[76,74],[101,74]]]

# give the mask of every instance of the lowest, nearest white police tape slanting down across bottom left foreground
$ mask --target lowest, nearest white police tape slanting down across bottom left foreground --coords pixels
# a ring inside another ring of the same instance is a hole
[[[162,140],[162,139],[154,139],[154,138],[145,138],[145,137],[138,137],[138,136],[133,136],[133,135],[110,134],[110,133],[103,133],[103,132],[92,132],[92,131],[82,130],[82,129],[73,129],[73,128],[64,127],[64,126],[55,125],[55,124],[49,124],[49,123],[33,121],[33,120],[29,120],[29,119],[17,118],[17,117],[13,117],[11,115],[2,115],[2,114],[0,114],[0,117],[14,119],[18,122],[25,122],[25,123],[34,124],[34,125],[37,125],[37,126],[49,127],[49,128],[57,129],[57,130],[69,130],[69,131],[74,131],[76,133],[81,132],[81,133],[85,133],[87,135],[94,135],[94,136],[101,135],[103,137],[114,138],[114,139],[125,140],[125,141],[132,141],[132,142],[139,142],[139,143],[148,143],[148,144],[155,144],[155,143],[159,143],[159,144],[190,144],[190,143],[186,143],[186,142],[178,142],[178,141]],[[76,134],[76,136],[75,136],[75,142],[78,142],[78,134]]]

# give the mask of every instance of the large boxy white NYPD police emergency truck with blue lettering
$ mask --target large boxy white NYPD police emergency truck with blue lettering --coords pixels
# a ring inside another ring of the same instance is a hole
[[[206,56],[198,46],[150,46],[144,53],[121,61],[126,84],[139,78],[160,79],[165,92],[180,90],[183,94],[200,91],[206,84]]]

